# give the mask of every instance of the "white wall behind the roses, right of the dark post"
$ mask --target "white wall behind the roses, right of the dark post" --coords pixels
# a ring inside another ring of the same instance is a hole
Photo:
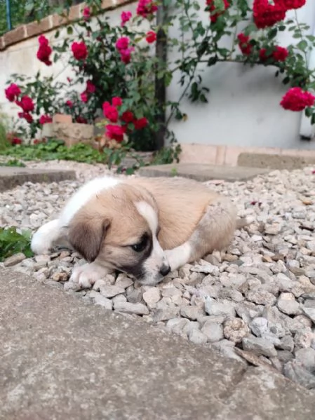
[[[200,5],[203,9],[203,0]],[[309,24],[313,32],[315,1],[307,0],[307,5],[297,13],[300,22]],[[287,16],[290,14],[287,13]],[[207,13],[201,11],[200,17],[208,21]],[[176,30],[173,28],[170,36],[175,36]],[[278,39],[282,46],[292,41],[290,33],[282,33]],[[275,67],[250,68],[236,63],[217,63],[214,67],[206,67],[201,76],[204,86],[210,88],[208,104],[192,104],[185,100],[182,111],[188,115],[187,121],[173,121],[170,128],[184,144],[315,149],[315,141],[300,140],[302,113],[285,111],[280,107],[279,102],[288,86],[283,86],[281,80],[274,77],[275,72]],[[180,96],[177,80],[174,79],[168,89],[169,100],[177,100]],[[304,125],[306,132],[310,133],[309,119],[304,121]]]

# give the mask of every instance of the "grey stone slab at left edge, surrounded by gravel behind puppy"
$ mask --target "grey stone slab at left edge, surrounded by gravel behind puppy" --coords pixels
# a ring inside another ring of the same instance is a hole
[[[13,189],[25,182],[60,182],[76,179],[74,170],[45,170],[0,166],[0,191]]]

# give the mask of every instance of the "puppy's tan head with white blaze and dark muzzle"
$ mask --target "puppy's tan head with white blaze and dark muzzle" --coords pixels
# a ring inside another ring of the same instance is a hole
[[[158,211],[145,189],[118,184],[86,203],[69,224],[68,240],[88,261],[155,285],[170,267],[157,240]]]

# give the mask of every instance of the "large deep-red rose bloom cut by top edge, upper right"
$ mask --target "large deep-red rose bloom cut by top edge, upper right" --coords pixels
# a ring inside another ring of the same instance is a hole
[[[269,4],[268,0],[254,0],[253,18],[257,28],[270,27],[286,18],[286,8],[280,0],[275,4]]]

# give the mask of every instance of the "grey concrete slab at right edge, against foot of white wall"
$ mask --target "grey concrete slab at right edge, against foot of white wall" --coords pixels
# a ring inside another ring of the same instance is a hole
[[[237,163],[246,167],[293,170],[315,165],[315,158],[280,154],[241,153]]]

